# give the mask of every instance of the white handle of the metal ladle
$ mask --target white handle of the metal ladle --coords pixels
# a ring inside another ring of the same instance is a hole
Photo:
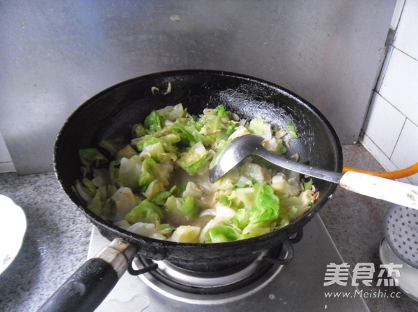
[[[412,184],[349,171],[343,174],[340,186],[358,194],[418,210],[418,186]]]

